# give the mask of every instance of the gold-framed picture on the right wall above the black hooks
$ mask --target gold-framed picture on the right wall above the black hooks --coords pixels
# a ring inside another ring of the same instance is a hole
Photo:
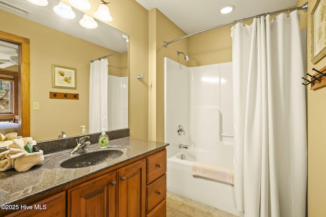
[[[311,61],[318,63],[326,55],[326,0],[318,0],[311,12]]]

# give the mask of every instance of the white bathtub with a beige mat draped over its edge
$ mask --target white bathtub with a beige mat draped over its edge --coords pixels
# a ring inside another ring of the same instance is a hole
[[[181,159],[184,155],[184,160]],[[230,184],[205,178],[194,177],[192,165],[195,161],[227,167],[225,161],[212,158],[213,153],[203,150],[188,149],[170,158],[167,164],[167,190],[201,203],[222,209],[238,216],[242,212],[235,208],[234,188]],[[216,154],[215,154],[216,156]],[[230,162],[230,161],[229,161]]]

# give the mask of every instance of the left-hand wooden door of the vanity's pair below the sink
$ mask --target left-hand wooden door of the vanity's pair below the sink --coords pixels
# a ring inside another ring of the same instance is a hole
[[[67,191],[68,216],[115,216],[115,171]]]

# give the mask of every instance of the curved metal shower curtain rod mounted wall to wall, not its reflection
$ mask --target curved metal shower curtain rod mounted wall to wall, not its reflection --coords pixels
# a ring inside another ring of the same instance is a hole
[[[171,43],[173,43],[173,42],[176,42],[176,41],[179,41],[181,39],[185,39],[185,38],[191,37],[191,36],[196,35],[198,33],[203,33],[203,32],[206,32],[208,30],[215,29],[215,28],[220,28],[220,27],[223,27],[223,26],[235,24],[237,22],[243,22],[243,21],[246,21],[246,20],[251,20],[251,19],[254,19],[256,17],[266,16],[268,14],[275,15],[275,14],[279,14],[279,13],[283,13],[283,12],[290,12],[290,11],[295,11],[295,10],[302,10],[304,12],[307,12],[307,9],[308,9],[308,2],[306,2],[303,6],[298,7],[298,8],[294,7],[294,8],[288,8],[288,9],[280,10],[280,11],[268,12],[268,13],[259,14],[259,15],[253,16],[253,17],[243,18],[243,19],[240,19],[240,20],[234,20],[232,22],[227,22],[227,23],[224,23],[224,24],[221,24],[221,25],[216,25],[216,26],[213,26],[213,27],[210,27],[210,28],[206,28],[204,30],[201,30],[199,32],[196,32],[196,33],[192,33],[192,34],[183,36],[181,38],[175,39],[175,40],[170,41],[170,42],[164,42],[163,45],[164,45],[164,47],[168,47],[168,45],[171,44]]]

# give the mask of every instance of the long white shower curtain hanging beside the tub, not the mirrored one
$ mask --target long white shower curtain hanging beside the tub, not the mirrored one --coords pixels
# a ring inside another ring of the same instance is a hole
[[[248,217],[305,216],[307,133],[298,15],[232,27],[234,189]]]

